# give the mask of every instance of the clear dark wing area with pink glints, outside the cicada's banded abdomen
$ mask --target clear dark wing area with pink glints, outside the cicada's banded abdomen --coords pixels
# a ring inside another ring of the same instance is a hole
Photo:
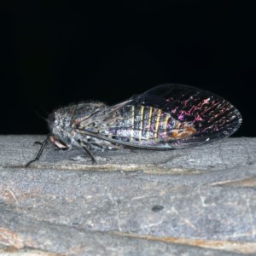
[[[134,104],[160,108],[174,119],[191,124],[191,137],[171,141],[187,148],[229,137],[241,126],[241,113],[227,100],[207,90],[184,84],[161,84],[134,99]]]

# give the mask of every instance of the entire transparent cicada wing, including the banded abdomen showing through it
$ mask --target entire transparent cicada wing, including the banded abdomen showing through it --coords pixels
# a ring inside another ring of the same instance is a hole
[[[108,108],[95,137],[133,147],[188,148],[228,137],[241,113],[224,98],[183,84],[161,84]],[[84,123],[80,129],[87,130]],[[88,130],[87,130],[88,131]]]

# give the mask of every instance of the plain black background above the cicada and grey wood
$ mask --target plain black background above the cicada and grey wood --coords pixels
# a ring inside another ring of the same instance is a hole
[[[20,1],[1,7],[1,134],[47,112],[113,104],[163,83],[210,90],[255,131],[255,9],[247,1]]]

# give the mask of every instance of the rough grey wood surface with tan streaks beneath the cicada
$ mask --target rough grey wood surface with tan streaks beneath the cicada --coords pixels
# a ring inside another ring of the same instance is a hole
[[[172,151],[49,147],[0,137],[0,253],[256,254],[256,138]]]

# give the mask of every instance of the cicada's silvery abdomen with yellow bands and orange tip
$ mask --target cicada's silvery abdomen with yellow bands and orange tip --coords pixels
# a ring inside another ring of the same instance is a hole
[[[108,136],[126,143],[151,145],[188,137],[195,132],[188,127],[160,108],[127,105],[119,111],[115,125],[108,129]]]

